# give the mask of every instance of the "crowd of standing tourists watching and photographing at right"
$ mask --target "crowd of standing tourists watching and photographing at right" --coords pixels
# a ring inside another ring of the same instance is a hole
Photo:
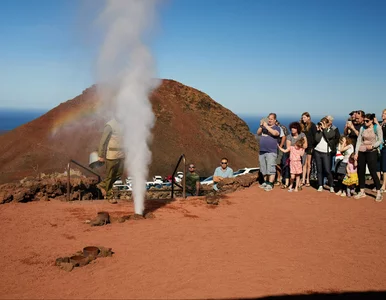
[[[344,132],[326,116],[316,124],[308,112],[287,129],[275,113],[260,121],[260,171],[265,191],[275,186],[298,192],[316,180],[318,192],[329,190],[341,197],[366,197],[370,179],[377,202],[386,190],[386,109],[382,120],[374,113],[352,111]],[[370,176],[369,176],[370,175]],[[381,183],[382,182],[382,183]]]

